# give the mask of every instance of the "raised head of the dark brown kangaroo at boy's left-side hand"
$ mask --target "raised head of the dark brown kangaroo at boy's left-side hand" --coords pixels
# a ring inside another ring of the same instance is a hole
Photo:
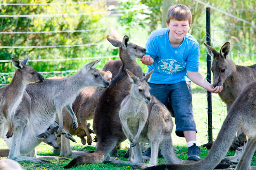
[[[129,36],[124,36],[123,42],[116,39],[107,38],[109,42],[115,47],[119,48],[120,58],[128,58],[135,60],[135,58],[142,58],[146,54],[146,49],[140,46],[137,46],[129,42]]]

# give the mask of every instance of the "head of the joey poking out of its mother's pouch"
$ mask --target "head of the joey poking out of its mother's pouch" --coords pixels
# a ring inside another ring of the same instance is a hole
[[[55,136],[55,132],[58,130],[59,126],[55,126],[54,128],[50,128],[44,133],[41,133],[37,136],[38,139],[42,140],[47,145],[52,146],[54,149],[58,150],[59,145],[57,143],[57,138]]]

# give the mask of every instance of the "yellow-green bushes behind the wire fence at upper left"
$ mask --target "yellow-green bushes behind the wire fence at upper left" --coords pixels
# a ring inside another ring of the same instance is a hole
[[[6,1],[1,1],[3,3]],[[26,0],[22,3],[30,3]],[[33,3],[57,3],[59,0],[34,0]],[[72,2],[68,0],[67,2]],[[20,3],[17,0],[8,3]],[[104,12],[106,8],[95,4],[72,4],[72,5],[33,5],[33,6],[4,6],[0,5],[0,14],[3,15],[24,15],[24,14],[70,14],[52,17],[2,17],[1,31],[66,31],[66,30],[86,30],[86,32],[62,32],[62,33],[40,33],[40,34],[0,34],[0,46],[56,46],[97,43],[106,39],[106,29],[108,24],[102,19],[106,14],[71,15],[91,12]],[[61,59],[88,57],[99,54],[97,46],[70,47],[70,48],[28,48],[28,49],[1,49],[0,59],[10,59],[12,57],[23,59],[30,56],[30,59]],[[49,70],[74,70],[84,62],[38,62],[32,66],[38,71]],[[14,71],[10,63],[0,63],[1,72]]]

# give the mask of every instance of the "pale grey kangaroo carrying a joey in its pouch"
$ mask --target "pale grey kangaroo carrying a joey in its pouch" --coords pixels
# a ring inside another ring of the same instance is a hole
[[[94,67],[100,60],[92,61],[78,73],[61,80],[45,80],[41,84],[30,84],[24,92],[21,104],[14,116],[15,130],[12,141],[9,141],[9,158],[17,161],[25,160],[41,163],[38,158],[21,156],[20,151],[31,152],[40,143],[37,136],[55,121],[56,112],[59,117],[59,131],[63,129],[62,109],[69,107],[82,88],[98,86],[106,88],[109,82]],[[73,119],[74,120],[74,119]],[[29,145],[28,145],[29,144]]]

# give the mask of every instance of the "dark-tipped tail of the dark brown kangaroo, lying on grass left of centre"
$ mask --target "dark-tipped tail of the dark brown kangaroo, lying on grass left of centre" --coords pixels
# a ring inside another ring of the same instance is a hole
[[[94,152],[87,155],[77,156],[71,162],[69,162],[64,168],[73,168],[79,165],[88,164],[88,163],[100,163],[104,161],[104,154],[101,152]]]

